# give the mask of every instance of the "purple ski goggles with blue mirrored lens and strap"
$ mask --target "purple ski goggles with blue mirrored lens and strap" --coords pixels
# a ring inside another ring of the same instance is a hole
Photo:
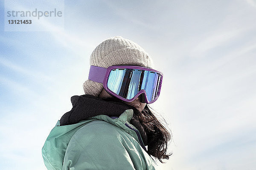
[[[163,74],[143,66],[90,66],[88,79],[102,83],[110,95],[122,101],[131,102],[139,96],[141,103],[151,104],[160,95]]]

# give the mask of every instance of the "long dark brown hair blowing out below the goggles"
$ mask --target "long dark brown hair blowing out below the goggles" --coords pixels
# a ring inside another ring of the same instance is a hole
[[[115,97],[106,97],[102,99],[105,101],[119,101],[126,104],[122,100]],[[172,133],[169,133],[169,131],[163,126],[163,124],[160,123],[160,121],[156,118],[154,113],[151,111],[152,108],[149,107],[148,104],[145,105],[142,112],[140,112],[134,106],[131,106],[128,104],[126,105],[134,110],[134,114],[136,114],[137,117],[139,118],[140,124],[143,126],[143,129],[147,134],[148,155],[154,156],[161,163],[164,163],[162,159],[169,159],[169,156],[172,155],[172,153],[166,154],[168,142],[172,140]],[[166,123],[166,121],[164,122]]]

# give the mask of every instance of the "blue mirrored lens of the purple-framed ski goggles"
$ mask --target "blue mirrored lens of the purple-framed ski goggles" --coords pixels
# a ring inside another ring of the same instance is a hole
[[[160,74],[140,69],[113,69],[108,78],[108,89],[117,95],[131,99],[144,89],[148,101],[153,101],[158,92]]]

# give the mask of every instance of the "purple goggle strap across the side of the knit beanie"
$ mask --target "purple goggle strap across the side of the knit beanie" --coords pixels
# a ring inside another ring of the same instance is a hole
[[[90,72],[88,79],[103,84],[107,69],[103,67],[90,66]]]

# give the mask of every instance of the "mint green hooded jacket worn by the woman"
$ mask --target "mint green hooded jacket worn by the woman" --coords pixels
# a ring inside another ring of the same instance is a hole
[[[44,164],[48,170],[155,170],[140,134],[128,127],[137,130],[132,115],[127,109],[119,118],[97,115],[66,126],[58,121],[42,148]]]

